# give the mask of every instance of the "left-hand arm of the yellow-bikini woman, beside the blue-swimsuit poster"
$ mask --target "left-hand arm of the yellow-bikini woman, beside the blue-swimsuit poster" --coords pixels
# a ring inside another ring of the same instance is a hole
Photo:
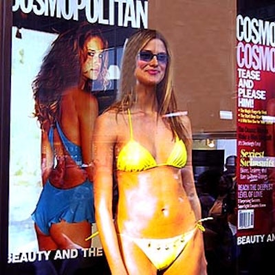
[[[96,225],[112,275],[126,275],[113,223],[113,148],[117,122],[114,113],[104,113],[96,120],[93,139],[94,198]]]

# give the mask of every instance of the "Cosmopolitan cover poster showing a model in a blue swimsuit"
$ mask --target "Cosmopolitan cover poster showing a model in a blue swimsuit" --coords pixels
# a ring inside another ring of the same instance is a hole
[[[148,27],[148,1],[14,0],[12,15],[9,268],[108,274],[89,137],[117,96],[127,38]],[[52,227],[58,214],[69,222]]]

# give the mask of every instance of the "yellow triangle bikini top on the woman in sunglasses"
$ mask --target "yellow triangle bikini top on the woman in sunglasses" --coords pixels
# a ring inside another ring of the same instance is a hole
[[[130,127],[130,140],[118,153],[117,170],[126,172],[139,172],[154,168],[157,166],[173,166],[182,168],[186,164],[187,152],[186,146],[182,140],[176,135],[175,145],[170,153],[167,161],[163,164],[157,164],[153,155],[133,140],[133,126],[131,122],[131,113],[128,109],[129,127]]]

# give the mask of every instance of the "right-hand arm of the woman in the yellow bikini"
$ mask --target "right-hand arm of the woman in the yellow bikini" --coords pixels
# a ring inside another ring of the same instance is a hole
[[[186,166],[181,169],[181,178],[183,182],[184,189],[191,203],[191,207],[195,212],[196,220],[201,219],[201,203],[199,202],[199,197],[197,195],[197,190],[195,188],[194,175],[192,170],[192,130],[189,118],[185,115],[182,118],[182,123],[186,129],[186,136],[188,142],[186,142],[187,150],[187,162]]]

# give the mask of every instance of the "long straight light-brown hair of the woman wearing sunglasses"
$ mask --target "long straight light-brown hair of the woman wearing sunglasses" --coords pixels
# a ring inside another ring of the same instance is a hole
[[[120,90],[118,101],[115,102],[111,109],[117,112],[126,111],[133,106],[135,102],[135,68],[137,62],[137,54],[142,50],[145,45],[152,39],[160,39],[166,47],[168,54],[168,61],[166,65],[166,72],[163,80],[155,87],[155,94],[157,98],[157,113],[159,116],[177,111],[177,102],[175,92],[172,85],[172,56],[168,42],[164,36],[157,30],[138,30],[126,42],[124,54],[122,58],[122,70],[120,78]],[[177,133],[182,140],[187,140],[186,129],[181,122],[179,116],[171,116],[167,118],[173,133]]]

